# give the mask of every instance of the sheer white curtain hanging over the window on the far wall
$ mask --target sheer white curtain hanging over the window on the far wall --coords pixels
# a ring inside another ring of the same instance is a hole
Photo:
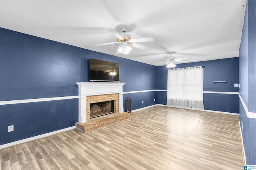
[[[168,70],[167,106],[204,109],[202,66]]]

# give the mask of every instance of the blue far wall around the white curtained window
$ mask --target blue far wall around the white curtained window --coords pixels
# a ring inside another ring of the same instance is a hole
[[[239,92],[234,83],[239,83],[239,59],[238,57],[196,63],[176,64],[175,68],[205,66],[203,68],[203,91],[210,92]],[[158,69],[158,89],[167,89],[166,66]],[[213,83],[213,81],[227,81],[225,83]],[[164,95],[165,94],[165,95]],[[167,92],[158,92],[158,103],[166,104]],[[212,94],[204,93],[204,109],[239,113],[239,97],[237,94]]]

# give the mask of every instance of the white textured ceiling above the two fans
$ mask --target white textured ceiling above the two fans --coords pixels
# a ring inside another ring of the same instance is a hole
[[[187,62],[238,57],[246,0],[1,0],[0,27],[156,66],[166,52]],[[116,54],[108,31],[126,25],[149,47]],[[174,62],[175,63],[175,62]]]

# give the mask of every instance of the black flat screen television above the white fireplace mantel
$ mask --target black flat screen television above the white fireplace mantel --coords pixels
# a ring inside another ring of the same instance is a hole
[[[90,81],[119,82],[119,64],[109,61],[90,59]]]

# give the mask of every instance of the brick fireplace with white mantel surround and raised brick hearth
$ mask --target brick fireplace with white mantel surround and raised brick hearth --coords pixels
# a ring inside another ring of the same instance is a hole
[[[79,115],[76,129],[86,133],[131,117],[123,113],[123,86],[118,82],[78,82]],[[114,101],[113,113],[91,118],[91,104]]]

